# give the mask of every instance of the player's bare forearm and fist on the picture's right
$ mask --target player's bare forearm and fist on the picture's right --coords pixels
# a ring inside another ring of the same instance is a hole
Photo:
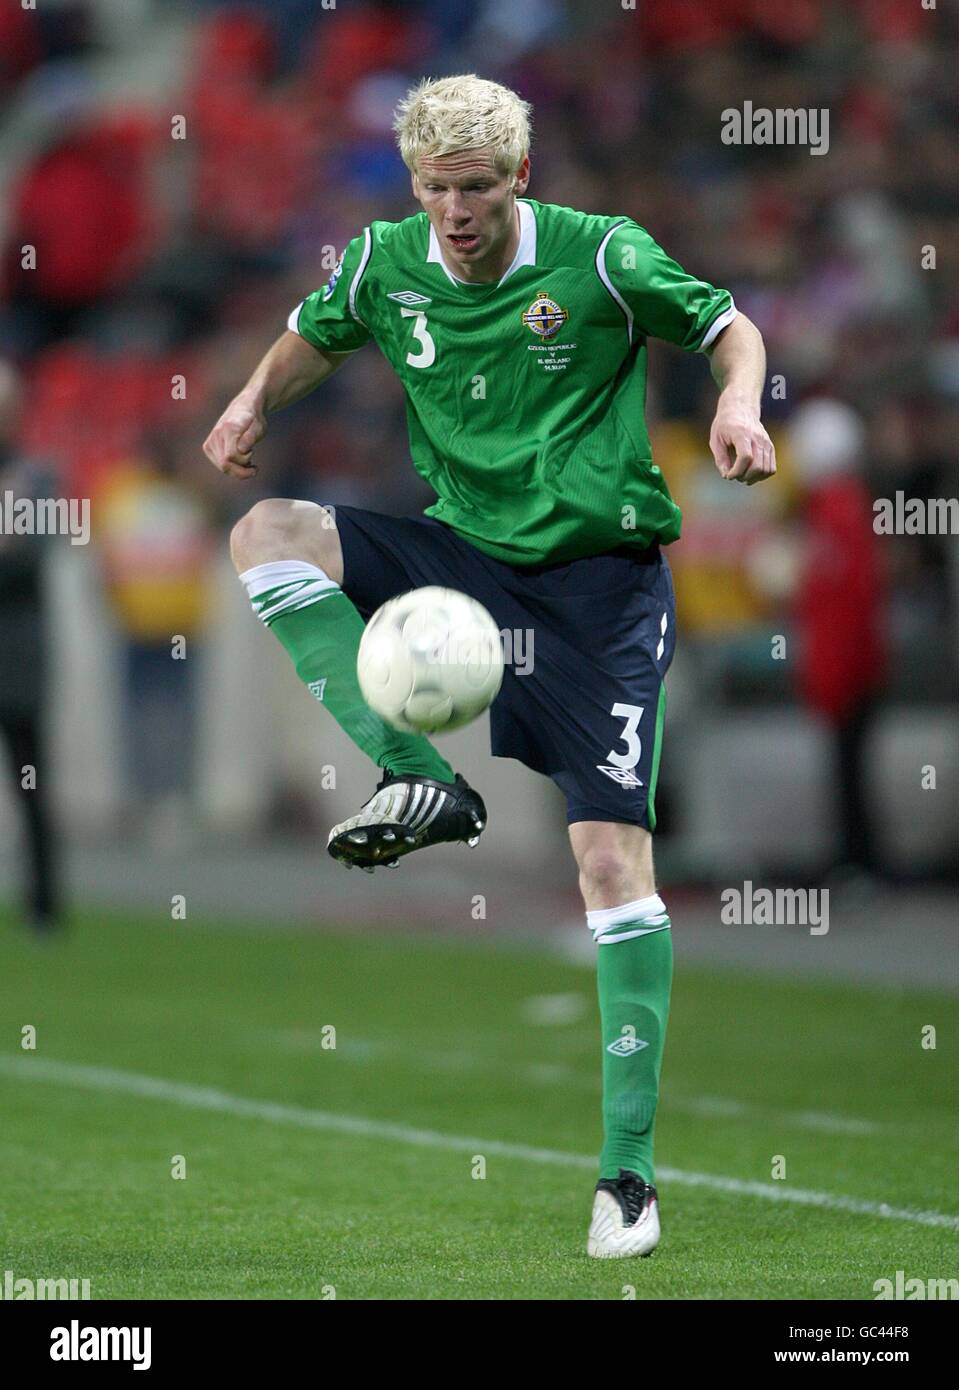
[[[752,320],[739,313],[709,353],[720,388],[709,448],[727,481],[752,486],[776,473],[776,449],[759,418],[766,382],[766,349]]]

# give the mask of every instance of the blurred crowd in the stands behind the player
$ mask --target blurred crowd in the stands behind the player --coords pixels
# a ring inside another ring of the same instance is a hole
[[[253,488],[215,475],[200,443],[325,282],[329,249],[416,210],[396,100],[424,74],[478,71],[534,103],[531,196],[635,217],[764,334],[782,477],[748,495],[709,463],[703,359],[650,354],[703,694],[788,691],[835,714],[833,696],[810,694],[828,677],[796,684],[769,660],[777,623],[795,623],[810,651],[828,641],[808,621],[839,506],[819,505],[824,450],[856,478],[835,573],[859,598],[837,621],[853,642],[856,613],[876,628],[867,676],[860,662],[849,680],[953,698],[955,538],[873,543],[870,527],[873,498],[958,491],[959,24],[946,6],[50,0],[0,15],[0,125],[17,132],[0,136],[0,353],[24,389],[4,449],[93,499],[104,582],[139,651],[132,681],[154,680],[143,653],[157,634],[202,626],[204,564],[254,496],[399,513],[431,500],[374,349],[271,421]],[[129,63],[131,18],[145,71],[156,50],[139,100],[110,82]],[[723,143],[721,113],[746,100],[828,108],[828,153]],[[809,425],[791,434],[821,398],[838,413],[820,413],[810,457]]]

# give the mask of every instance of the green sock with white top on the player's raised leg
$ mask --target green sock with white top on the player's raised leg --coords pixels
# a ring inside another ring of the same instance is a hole
[[[240,580],[296,674],[357,748],[392,773],[453,781],[453,769],[427,738],[392,728],[363,699],[356,653],[364,623],[329,575],[303,560],[274,560]]]

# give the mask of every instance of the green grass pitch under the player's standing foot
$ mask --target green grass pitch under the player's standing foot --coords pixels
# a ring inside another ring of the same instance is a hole
[[[598,1262],[592,970],[480,929],[88,913],[35,942],[0,922],[0,1277],[89,1279],[93,1298],[534,1300],[952,1277],[956,1012],[680,959],[663,1243]]]

